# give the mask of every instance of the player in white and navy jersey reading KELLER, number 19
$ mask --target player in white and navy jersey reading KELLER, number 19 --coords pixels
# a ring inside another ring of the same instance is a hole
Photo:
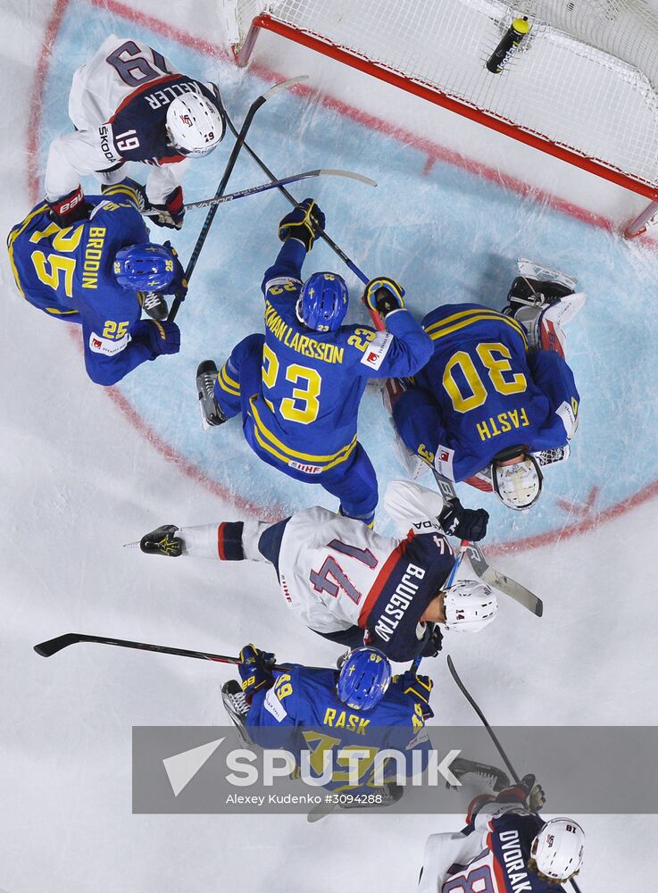
[[[75,132],[53,140],[46,166],[55,221],[70,226],[88,216],[81,176],[94,174],[102,187],[112,186],[134,161],[152,165],[143,197],[158,212],[154,221],[180,229],[189,158],[212,152],[224,136],[217,87],[179,74],[151,46],[112,34],[75,71],[69,116]]]

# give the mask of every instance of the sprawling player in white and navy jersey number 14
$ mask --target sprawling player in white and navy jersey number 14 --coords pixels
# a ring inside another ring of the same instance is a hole
[[[496,595],[484,583],[446,589],[455,562],[446,533],[477,541],[488,515],[458,500],[445,505],[436,490],[402,480],[388,484],[385,505],[396,538],[315,506],[274,524],[163,525],[140,546],[154,555],[270,562],[289,608],[322,636],[377,647],[393,661],[437,655],[439,624],[475,632],[496,616]]]

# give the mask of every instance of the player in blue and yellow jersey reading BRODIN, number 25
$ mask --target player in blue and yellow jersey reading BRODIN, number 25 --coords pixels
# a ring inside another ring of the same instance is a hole
[[[176,354],[175,322],[141,320],[142,304],[184,296],[184,272],[169,243],[149,241],[131,180],[90,198],[88,220],[62,227],[37,204],[9,234],[16,285],[29,304],[82,327],[92,381],[113,385],[146,360]]]

